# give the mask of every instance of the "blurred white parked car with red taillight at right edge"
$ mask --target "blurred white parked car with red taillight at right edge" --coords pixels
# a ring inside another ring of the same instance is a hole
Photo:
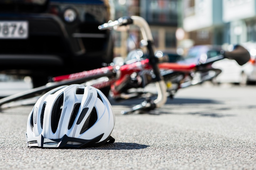
[[[255,84],[256,82],[256,44],[245,44],[251,54],[251,60],[240,66],[234,60],[223,59],[212,64],[222,72],[214,79],[216,83],[239,83],[240,85]]]

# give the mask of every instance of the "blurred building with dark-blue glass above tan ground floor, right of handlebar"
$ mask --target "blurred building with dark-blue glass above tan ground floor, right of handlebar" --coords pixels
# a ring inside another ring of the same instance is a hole
[[[141,16],[150,25],[158,49],[175,49],[177,0],[140,0]]]

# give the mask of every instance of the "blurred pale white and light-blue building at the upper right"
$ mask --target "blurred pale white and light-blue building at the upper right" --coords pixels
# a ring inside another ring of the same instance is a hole
[[[182,7],[194,45],[256,42],[256,0],[182,0]]]

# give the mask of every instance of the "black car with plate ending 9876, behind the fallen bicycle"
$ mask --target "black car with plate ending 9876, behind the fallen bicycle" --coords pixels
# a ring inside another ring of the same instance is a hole
[[[0,73],[29,75],[34,87],[113,59],[111,0],[0,0]]]

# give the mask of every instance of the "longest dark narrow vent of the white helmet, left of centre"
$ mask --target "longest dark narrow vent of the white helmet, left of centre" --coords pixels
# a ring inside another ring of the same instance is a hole
[[[58,128],[59,119],[61,117],[61,111],[63,107],[63,100],[64,94],[62,93],[53,104],[53,109],[51,111],[51,130],[53,133],[55,133]]]

